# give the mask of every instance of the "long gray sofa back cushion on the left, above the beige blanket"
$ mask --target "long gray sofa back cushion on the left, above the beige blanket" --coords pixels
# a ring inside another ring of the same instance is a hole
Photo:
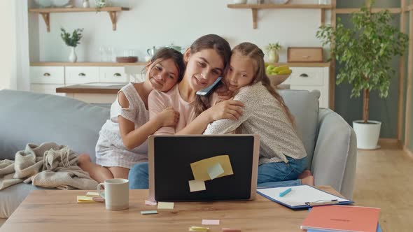
[[[55,142],[94,161],[94,147],[109,108],[63,96],[0,91],[0,159],[14,159],[27,143]]]

